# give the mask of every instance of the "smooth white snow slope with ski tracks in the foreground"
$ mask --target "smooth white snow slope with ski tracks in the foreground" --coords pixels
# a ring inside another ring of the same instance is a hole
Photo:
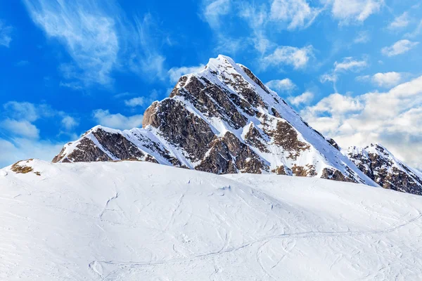
[[[0,280],[422,279],[420,196],[148,162],[20,168],[0,170]]]

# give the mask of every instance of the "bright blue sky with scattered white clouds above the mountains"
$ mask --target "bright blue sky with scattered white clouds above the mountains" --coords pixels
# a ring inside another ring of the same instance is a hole
[[[222,53],[343,147],[383,143],[421,169],[421,38],[416,0],[1,1],[0,166],[141,126]]]

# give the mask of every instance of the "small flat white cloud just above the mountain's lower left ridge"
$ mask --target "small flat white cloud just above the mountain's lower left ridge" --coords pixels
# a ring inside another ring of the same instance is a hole
[[[114,129],[132,129],[142,126],[143,115],[124,116],[120,113],[110,114],[108,110],[94,110],[94,119],[98,124]]]

